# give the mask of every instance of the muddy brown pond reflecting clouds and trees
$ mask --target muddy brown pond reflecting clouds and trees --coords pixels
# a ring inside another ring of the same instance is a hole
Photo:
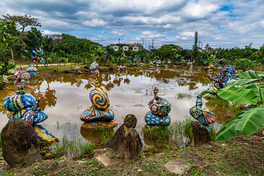
[[[146,124],[144,117],[149,111],[147,104],[153,99],[153,87],[158,87],[159,96],[167,99],[171,104],[169,113],[171,122],[183,120],[186,115],[190,116],[189,109],[195,105],[196,96],[211,84],[207,74],[208,72],[191,70],[137,69],[125,72],[103,72],[100,73],[98,82],[107,90],[109,108],[114,111],[116,122],[122,124],[127,114],[134,114],[138,119],[136,130],[140,133],[142,125]],[[49,116],[40,124],[50,133],[59,139],[63,137],[65,131],[70,136],[76,135],[83,140],[91,140],[91,138],[96,140],[100,137],[96,134],[88,137],[90,132],[81,129],[83,122],[80,116],[91,106],[89,93],[95,87],[93,75],[35,78],[29,81],[30,85],[24,90],[36,98],[40,97],[40,108]],[[17,90],[14,85],[9,88],[0,90],[0,129],[6,125],[13,113],[8,112],[3,106],[3,99],[15,94]],[[192,96],[187,99],[177,99],[177,93],[187,93]],[[219,112],[213,106],[210,107],[205,99],[203,102],[204,106],[216,114],[218,120],[226,121],[230,118],[226,112]]]

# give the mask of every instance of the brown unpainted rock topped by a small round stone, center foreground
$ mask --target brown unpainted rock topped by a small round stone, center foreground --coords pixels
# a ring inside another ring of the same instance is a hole
[[[133,114],[127,115],[124,123],[130,124],[129,126],[135,126],[136,117],[133,116]],[[125,124],[122,124],[117,129],[115,135],[105,143],[105,147],[118,152],[124,156],[126,162],[130,162],[130,160],[136,161],[138,159],[142,152],[143,143],[138,132],[133,127],[127,127]]]

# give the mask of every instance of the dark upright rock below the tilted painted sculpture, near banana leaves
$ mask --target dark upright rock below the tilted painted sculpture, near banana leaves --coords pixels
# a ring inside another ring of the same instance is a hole
[[[200,122],[192,120],[191,129],[193,133],[192,146],[201,145],[206,142],[211,142],[211,137],[207,128],[205,128]]]

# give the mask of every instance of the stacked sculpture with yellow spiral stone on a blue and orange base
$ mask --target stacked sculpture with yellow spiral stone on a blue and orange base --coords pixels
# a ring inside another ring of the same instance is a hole
[[[93,62],[96,63],[96,62]],[[92,63],[92,64],[93,64]],[[94,66],[94,64],[91,67]],[[90,70],[91,70],[90,67]],[[96,69],[97,67],[93,67]],[[98,84],[98,74],[95,73],[95,88],[91,90],[89,96],[92,105],[87,108],[81,115],[81,121],[83,128],[96,128],[96,127],[106,127],[114,128],[118,125],[114,120],[114,112],[109,109],[110,106],[108,95],[105,89],[100,87]]]

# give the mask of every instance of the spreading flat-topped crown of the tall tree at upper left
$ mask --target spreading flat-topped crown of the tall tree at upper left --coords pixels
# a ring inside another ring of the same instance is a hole
[[[26,14],[24,16],[10,16],[9,14],[7,15],[2,15],[7,21],[14,21],[19,28],[18,30],[22,29],[21,36],[24,34],[25,27],[27,26],[40,26],[40,22],[37,22],[37,18],[31,18],[31,16],[27,16]]]

